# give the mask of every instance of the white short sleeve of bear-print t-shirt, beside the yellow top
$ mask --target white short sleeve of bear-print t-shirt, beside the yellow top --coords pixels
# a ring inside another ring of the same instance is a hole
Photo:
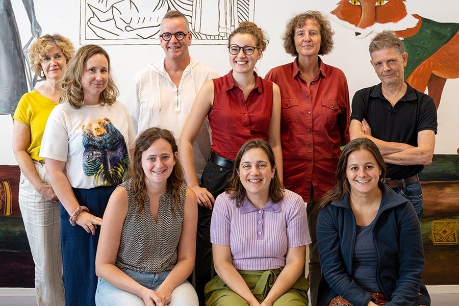
[[[39,156],[61,162],[67,161],[68,129],[65,113],[59,106],[54,108],[46,121]]]

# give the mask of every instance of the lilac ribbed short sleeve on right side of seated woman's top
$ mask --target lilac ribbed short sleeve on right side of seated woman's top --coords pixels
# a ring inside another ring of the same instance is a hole
[[[308,228],[308,217],[306,206],[301,197],[286,191],[283,206],[288,207],[287,218],[287,243],[289,247],[298,247],[311,243],[311,236]]]

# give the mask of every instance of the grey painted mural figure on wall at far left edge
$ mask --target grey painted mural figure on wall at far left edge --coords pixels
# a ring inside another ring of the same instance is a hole
[[[41,27],[35,16],[33,0],[22,0],[22,4],[32,33],[24,47],[21,46],[11,1],[0,0],[0,115],[13,114],[21,96],[37,82],[37,76],[32,77],[27,50],[32,40],[41,35]]]

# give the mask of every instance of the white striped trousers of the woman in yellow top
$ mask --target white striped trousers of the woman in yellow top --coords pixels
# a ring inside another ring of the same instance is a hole
[[[48,184],[44,164],[34,164],[40,180]],[[19,208],[35,263],[38,306],[65,305],[59,205],[44,198],[21,173]]]

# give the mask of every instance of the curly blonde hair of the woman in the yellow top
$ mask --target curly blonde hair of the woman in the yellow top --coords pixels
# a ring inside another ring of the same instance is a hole
[[[75,48],[72,42],[60,35],[42,35],[34,41],[29,48],[29,60],[32,71],[35,72],[42,80],[46,80],[46,75],[41,75],[43,68],[41,67],[42,58],[48,53],[48,50],[53,47],[61,49],[65,61],[68,63],[75,53]]]

